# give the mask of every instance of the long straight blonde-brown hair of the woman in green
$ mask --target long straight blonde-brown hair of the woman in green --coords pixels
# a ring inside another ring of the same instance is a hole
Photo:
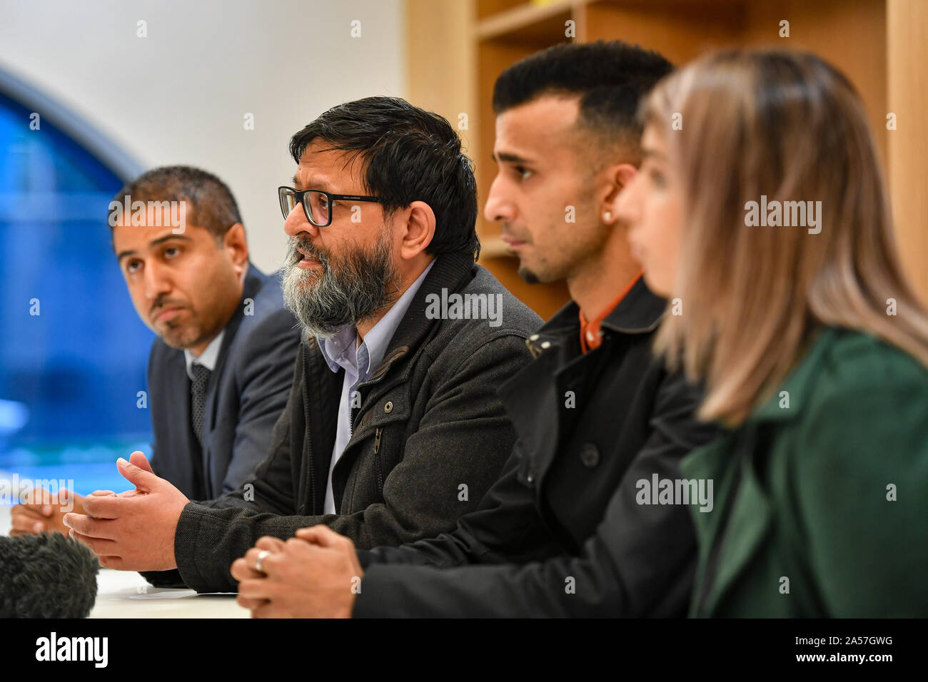
[[[671,297],[683,314],[666,315],[655,352],[705,381],[700,418],[740,424],[824,326],[928,366],[928,314],[902,273],[866,114],[843,74],[811,54],[727,50],[665,78],[642,113],[684,195]],[[762,195],[820,200],[820,232],[747,226]]]

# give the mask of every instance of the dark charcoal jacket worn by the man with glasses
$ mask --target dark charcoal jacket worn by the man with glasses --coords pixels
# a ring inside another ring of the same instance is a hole
[[[430,294],[443,290],[499,296],[500,324],[432,318]],[[438,256],[380,366],[358,386],[352,437],[332,471],[337,515],[322,508],[344,370],[329,369],[315,339],[304,342],[287,408],[254,481],[190,503],[181,514],[174,556],[184,582],[200,592],[235,590],[229,567],[259,537],[289,538],[316,523],[359,547],[402,545],[453,529],[509,457],[515,433],[496,387],[531,361],[525,338],[540,324],[472,259]]]

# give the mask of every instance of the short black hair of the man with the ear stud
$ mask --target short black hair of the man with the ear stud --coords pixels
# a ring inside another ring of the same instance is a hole
[[[579,125],[607,143],[638,148],[638,102],[673,70],[659,53],[619,40],[562,43],[503,71],[493,110],[498,115],[543,95],[579,96]]]

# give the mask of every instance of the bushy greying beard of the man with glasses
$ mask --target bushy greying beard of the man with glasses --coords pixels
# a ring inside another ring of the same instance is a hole
[[[322,264],[322,272],[303,270],[297,264],[299,246]],[[386,233],[369,251],[358,250],[344,257],[314,248],[299,235],[290,238],[287,262],[280,275],[284,303],[309,336],[327,339],[339,329],[356,326],[396,300],[399,273]]]

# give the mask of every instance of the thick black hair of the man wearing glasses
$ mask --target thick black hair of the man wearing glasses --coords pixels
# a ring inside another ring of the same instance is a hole
[[[361,155],[365,191],[388,214],[413,201],[432,207],[435,235],[426,253],[480,253],[473,164],[444,117],[399,97],[365,97],[332,107],[293,135],[293,161],[315,140],[348,152],[348,161]]]

